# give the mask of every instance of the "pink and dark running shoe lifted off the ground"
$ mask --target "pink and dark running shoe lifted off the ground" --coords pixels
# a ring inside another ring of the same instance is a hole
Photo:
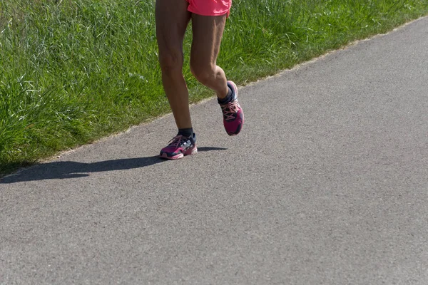
[[[238,135],[244,124],[244,111],[238,103],[238,88],[232,81],[228,81],[228,86],[232,90],[232,101],[220,104],[223,112],[223,125],[228,135]]]

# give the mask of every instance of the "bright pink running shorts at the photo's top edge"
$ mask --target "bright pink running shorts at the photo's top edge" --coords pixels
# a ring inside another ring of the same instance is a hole
[[[232,0],[186,0],[188,11],[202,16],[222,16],[230,14]]]

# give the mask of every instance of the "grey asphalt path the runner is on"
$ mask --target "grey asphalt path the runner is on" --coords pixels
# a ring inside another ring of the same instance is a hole
[[[428,284],[428,18],[5,177],[0,284]]]

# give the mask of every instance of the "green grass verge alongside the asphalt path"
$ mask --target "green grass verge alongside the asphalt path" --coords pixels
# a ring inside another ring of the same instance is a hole
[[[234,0],[219,65],[243,85],[427,13],[426,0]],[[0,0],[0,175],[170,112],[160,73],[153,0]],[[191,102],[213,95],[183,73]]]

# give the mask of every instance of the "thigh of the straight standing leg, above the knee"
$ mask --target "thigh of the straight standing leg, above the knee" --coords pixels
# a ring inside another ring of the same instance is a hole
[[[190,16],[186,0],[156,0],[156,39],[160,57],[183,53],[183,38]]]

